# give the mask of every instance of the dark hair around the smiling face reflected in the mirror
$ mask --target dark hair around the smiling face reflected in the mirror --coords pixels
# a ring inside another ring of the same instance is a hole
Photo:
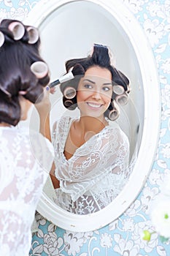
[[[82,59],[70,59],[66,61],[66,72],[69,72],[72,69],[72,73],[74,75],[74,79],[67,81],[65,83],[61,83],[61,92],[63,93],[63,105],[70,110],[73,110],[77,107],[77,96],[74,98],[67,99],[64,95],[64,91],[66,88],[72,87],[77,91],[78,84],[80,82],[80,78],[85,75],[85,72],[90,67],[103,67],[108,69],[112,74],[112,85],[113,86],[121,86],[123,88],[123,92],[126,94],[129,92],[129,80],[128,78],[117,70],[110,61],[111,57],[109,55],[109,48],[105,45],[97,45],[93,46],[93,53],[91,56]],[[108,110],[104,113],[104,116],[109,117],[109,112],[113,110],[114,106],[112,102],[117,97],[117,94],[113,91],[111,103],[109,105]],[[69,104],[68,104],[69,102]]]

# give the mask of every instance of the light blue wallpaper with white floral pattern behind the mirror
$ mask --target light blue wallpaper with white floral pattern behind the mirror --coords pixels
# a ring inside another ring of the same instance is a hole
[[[0,20],[24,20],[38,1],[42,0],[0,0]],[[37,213],[39,230],[34,233],[30,256],[170,255],[170,240],[163,244],[156,233],[152,234],[149,242],[142,239],[143,230],[154,231],[148,216],[150,200],[160,192],[163,176],[170,173],[170,0],[120,1],[134,14],[144,29],[158,67],[162,114],[155,162],[134,203],[119,219],[100,230],[73,233],[56,227]]]

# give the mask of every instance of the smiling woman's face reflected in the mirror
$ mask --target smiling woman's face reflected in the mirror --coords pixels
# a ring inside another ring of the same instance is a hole
[[[90,67],[77,89],[77,105],[81,116],[101,117],[112,98],[112,74],[103,67]]]

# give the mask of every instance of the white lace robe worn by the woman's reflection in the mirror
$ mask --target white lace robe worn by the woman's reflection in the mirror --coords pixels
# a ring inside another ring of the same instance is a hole
[[[53,125],[55,203],[74,214],[90,214],[104,208],[120,193],[128,179],[129,143],[115,122],[94,135],[74,152],[63,154],[74,118],[63,117]]]

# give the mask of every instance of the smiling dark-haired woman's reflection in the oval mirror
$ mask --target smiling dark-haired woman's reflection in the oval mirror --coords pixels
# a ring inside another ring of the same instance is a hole
[[[63,105],[78,108],[80,116],[62,116],[53,124],[50,176],[57,205],[74,214],[107,206],[129,176],[128,138],[115,121],[118,105],[127,103],[129,80],[110,58],[106,46],[94,45],[91,56],[66,61],[66,72],[72,69],[74,79],[61,83]],[[41,109],[39,116],[43,120]],[[49,124],[47,118],[46,136]]]

